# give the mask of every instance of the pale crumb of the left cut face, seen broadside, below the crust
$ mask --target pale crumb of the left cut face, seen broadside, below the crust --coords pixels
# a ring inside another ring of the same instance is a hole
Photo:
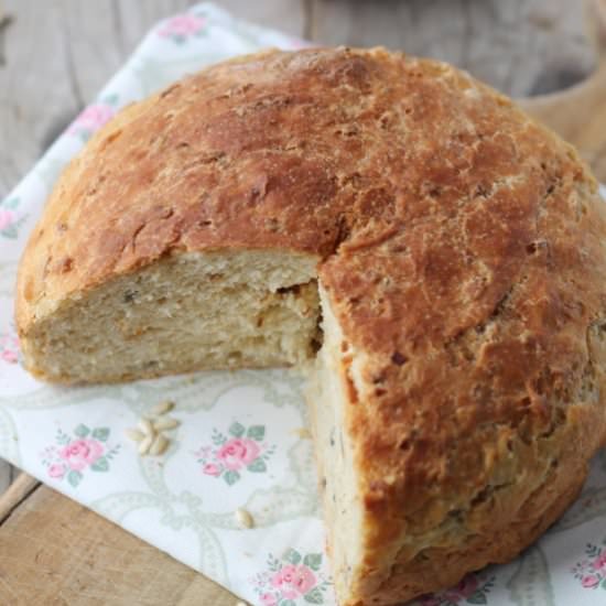
[[[300,362],[317,340],[313,256],[187,252],[56,302],[23,344],[50,380],[119,381]]]

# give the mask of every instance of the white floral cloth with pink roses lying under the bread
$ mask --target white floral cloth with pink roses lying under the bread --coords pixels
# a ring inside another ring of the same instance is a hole
[[[301,380],[285,370],[242,370],[50,387],[19,364],[13,284],[62,166],[121,106],[228,56],[303,45],[209,3],[163,21],[0,203],[0,456],[263,606],[335,604]],[[182,424],[164,457],[140,458],[125,430],[165,399],[176,402]],[[252,515],[252,529],[238,526],[238,508]],[[606,604],[606,453],[578,501],[522,556],[420,603]]]

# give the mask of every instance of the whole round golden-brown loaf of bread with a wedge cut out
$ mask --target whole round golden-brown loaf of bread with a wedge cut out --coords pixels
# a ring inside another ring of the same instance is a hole
[[[570,145],[451,66],[238,58],[64,172],[20,268],[24,360],[67,382],[314,360],[339,604],[405,600],[516,556],[605,442],[603,206]]]

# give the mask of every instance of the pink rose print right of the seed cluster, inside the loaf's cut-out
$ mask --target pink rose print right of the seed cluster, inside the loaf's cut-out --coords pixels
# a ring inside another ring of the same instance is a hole
[[[245,472],[262,474],[268,469],[268,461],[275,452],[275,445],[263,442],[264,425],[231,423],[225,435],[213,430],[213,446],[203,446],[194,454],[202,464],[202,473],[221,477],[229,486],[238,481]]]

